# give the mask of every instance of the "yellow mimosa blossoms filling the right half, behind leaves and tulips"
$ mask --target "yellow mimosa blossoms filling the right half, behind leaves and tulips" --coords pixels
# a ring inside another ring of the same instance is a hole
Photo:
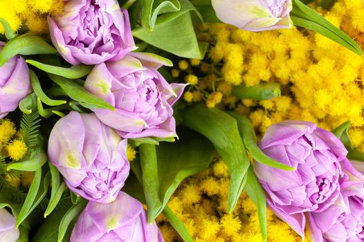
[[[364,48],[364,2],[338,0],[331,10],[318,9]],[[209,58],[183,60],[172,76],[190,83],[186,102],[233,109],[250,118],[262,136],[282,120],[307,120],[334,129],[350,120],[354,147],[364,150],[364,57],[311,31],[273,30],[248,32],[226,24],[202,26],[199,38],[212,43]],[[277,82],[282,95],[273,100],[241,100],[231,94],[234,86]],[[262,241],[257,210],[242,194],[233,214],[226,214],[227,171],[216,162],[208,171],[188,178],[168,205],[181,218],[196,241]],[[178,236],[159,224],[165,241]],[[285,223],[267,211],[269,241],[301,241]]]

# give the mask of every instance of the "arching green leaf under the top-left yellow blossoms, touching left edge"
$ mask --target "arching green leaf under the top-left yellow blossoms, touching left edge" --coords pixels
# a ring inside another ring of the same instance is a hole
[[[15,55],[56,55],[57,50],[42,37],[26,33],[11,39],[1,50],[0,66]]]

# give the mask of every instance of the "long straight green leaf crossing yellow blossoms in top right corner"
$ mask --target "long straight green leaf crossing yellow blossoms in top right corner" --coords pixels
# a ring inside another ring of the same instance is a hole
[[[325,37],[336,41],[336,43],[351,50],[356,55],[364,56],[364,52],[356,42],[351,39],[345,32],[336,28],[333,24],[321,17],[317,12],[304,5],[299,0],[293,0],[293,9],[291,11],[291,19],[295,26],[308,28],[318,32]]]

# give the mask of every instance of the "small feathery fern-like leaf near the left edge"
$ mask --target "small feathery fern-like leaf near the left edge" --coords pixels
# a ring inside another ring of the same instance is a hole
[[[38,111],[30,114],[23,113],[23,117],[21,118],[20,128],[23,131],[23,141],[26,143],[29,151],[33,151],[37,145],[40,120]]]

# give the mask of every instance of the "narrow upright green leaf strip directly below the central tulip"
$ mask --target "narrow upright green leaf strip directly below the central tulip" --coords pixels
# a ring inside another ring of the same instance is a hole
[[[142,168],[145,201],[148,205],[148,221],[152,223],[156,216],[162,212],[162,202],[159,198],[158,162],[156,147],[151,144],[139,146],[140,165]]]

